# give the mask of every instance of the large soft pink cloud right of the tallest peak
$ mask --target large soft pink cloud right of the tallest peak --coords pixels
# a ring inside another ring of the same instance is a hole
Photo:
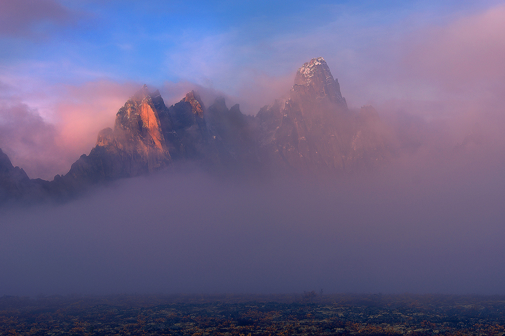
[[[385,68],[396,65],[384,79],[396,82],[399,88],[391,92],[397,97],[375,97],[374,104],[439,123],[456,142],[475,124],[500,139],[505,127],[504,22],[505,6],[500,5],[405,34],[398,40],[397,62]]]

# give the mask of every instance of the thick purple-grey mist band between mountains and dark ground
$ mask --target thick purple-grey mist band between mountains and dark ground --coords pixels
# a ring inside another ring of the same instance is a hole
[[[338,179],[163,173],[3,209],[0,295],[503,294],[495,154]]]

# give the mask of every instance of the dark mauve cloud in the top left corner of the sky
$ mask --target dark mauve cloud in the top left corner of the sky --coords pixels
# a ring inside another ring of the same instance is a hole
[[[67,26],[77,14],[55,0],[0,0],[0,36],[34,37],[44,23]]]

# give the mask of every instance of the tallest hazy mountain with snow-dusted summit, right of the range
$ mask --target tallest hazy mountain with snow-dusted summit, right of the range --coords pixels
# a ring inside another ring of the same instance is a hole
[[[388,134],[378,117],[365,115],[350,113],[324,59],[312,59],[298,69],[289,97],[255,118],[263,160],[307,173],[376,165],[390,155]]]

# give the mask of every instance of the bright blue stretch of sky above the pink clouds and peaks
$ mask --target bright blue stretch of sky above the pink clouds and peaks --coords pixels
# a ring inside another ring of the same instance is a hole
[[[0,57],[51,84],[189,80],[236,94],[252,72],[288,75],[320,55],[335,68],[346,53],[494,3],[62,1],[64,19],[34,16],[23,31],[4,33]]]

